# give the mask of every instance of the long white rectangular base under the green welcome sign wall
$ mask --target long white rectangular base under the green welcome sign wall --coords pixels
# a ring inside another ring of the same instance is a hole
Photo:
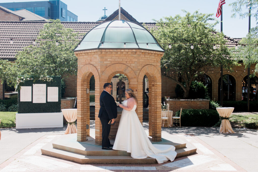
[[[63,127],[63,113],[16,113],[16,129]]]

